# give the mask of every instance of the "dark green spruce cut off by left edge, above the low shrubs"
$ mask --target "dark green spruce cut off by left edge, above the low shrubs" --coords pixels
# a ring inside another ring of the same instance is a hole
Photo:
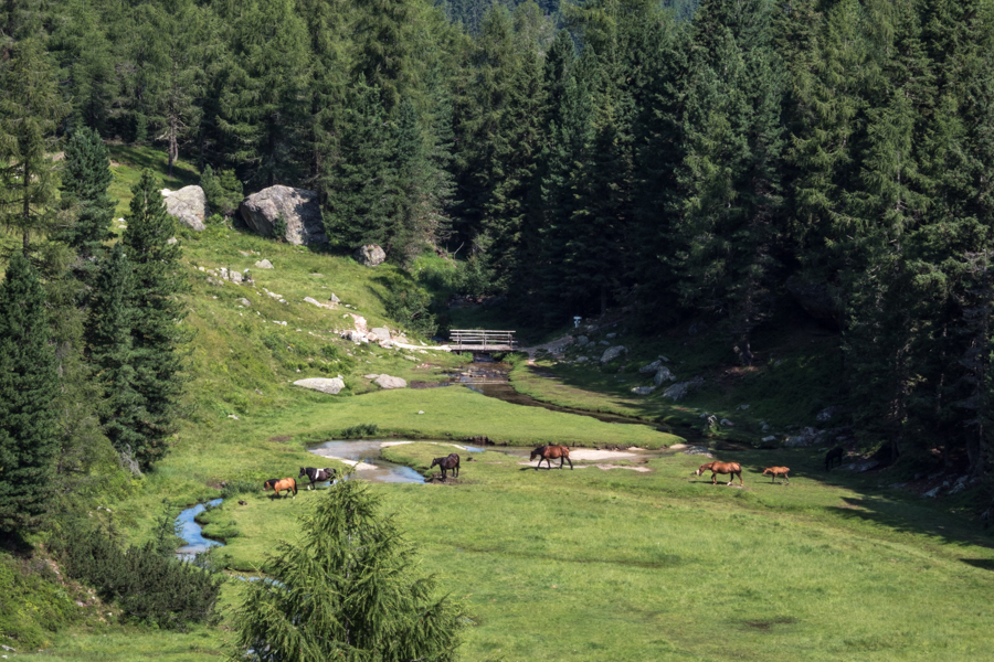
[[[0,531],[41,522],[53,490],[59,450],[55,355],[49,344],[45,295],[17,252],[0,284]]]

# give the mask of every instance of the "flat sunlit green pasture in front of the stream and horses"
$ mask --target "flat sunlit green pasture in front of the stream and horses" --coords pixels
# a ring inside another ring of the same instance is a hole
[[[447,450],[384,456],[424,470]],[[758,476],[783,451],[736,453],[744,490],[691,477],[699,459],[684,455],[647,473],[462,457],[458,484],[374,490],[467,606],[466,660],[720,660],[730,639],[747,660],[985,654],[990,538],[859,479],[826,484],[815,451],[789,455],[790,485]],[[225,504],[244,534],[226,552],[257,567],[318,499]]]

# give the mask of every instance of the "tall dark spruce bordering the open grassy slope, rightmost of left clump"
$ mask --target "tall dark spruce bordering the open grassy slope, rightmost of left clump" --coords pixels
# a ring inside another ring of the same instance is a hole
[[[151,467],[167,450],[167,439],[176,429],[179,398],[183,388],[180,322],[186,308],[178,295],[186,281],[180,270],[180,249],[169,244],[176,221],[166,213],[160,183],[150,171],[131,189],[128,227],[121,236],[128,260],[135,268],[137,301],[131,330],[137,373],[135,389],[145,401],[145,439],[135,448],[142,469]]]

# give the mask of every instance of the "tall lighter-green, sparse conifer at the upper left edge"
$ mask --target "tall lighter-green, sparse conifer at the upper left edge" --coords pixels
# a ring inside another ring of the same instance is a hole
[[[0,223],[21,233],[25,252],[32,233],[44,233],[53,223],[52,154],[65,113],[41,43],[18,42],[0,77]]]

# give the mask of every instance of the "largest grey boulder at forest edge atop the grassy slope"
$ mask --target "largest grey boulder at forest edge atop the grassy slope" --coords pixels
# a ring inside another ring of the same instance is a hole
[[[328,243],[321,206],[314,191],[269,186],[243,200],[239,213],[262,236],[273,236],[276,221],[282,217],[286,222],[284,238],[288,243],[297,246]]]

